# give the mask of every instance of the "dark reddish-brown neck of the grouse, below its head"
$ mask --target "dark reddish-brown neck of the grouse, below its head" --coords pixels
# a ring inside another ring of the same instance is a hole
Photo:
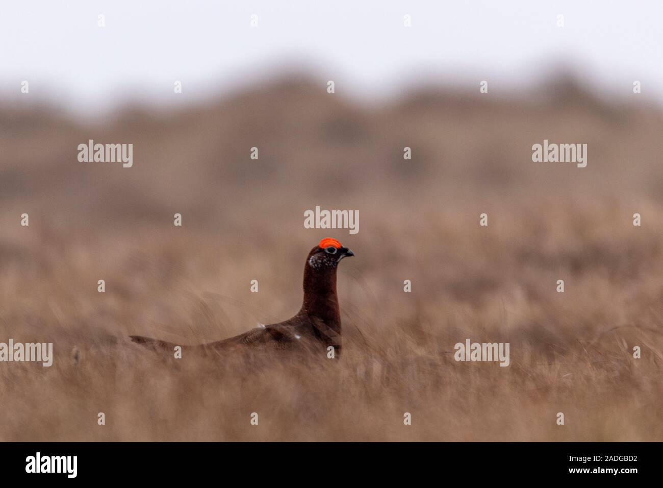
[[[324,321],[325,325],[340,333],[341,312],[336,295],[336,268],[314,270],[304,268],[304,303],[302,312]]]

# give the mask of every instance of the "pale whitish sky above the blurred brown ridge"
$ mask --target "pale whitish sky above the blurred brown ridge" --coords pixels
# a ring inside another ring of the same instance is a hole
[[[28,80],[30,96],[76,111],[179,103],[294,63],[369,100],[424,78],[513,89],[564,62],[625,95],[640,80],[661,102],[662,26],[658,0],[5,0],[0,96],[20,102]]]

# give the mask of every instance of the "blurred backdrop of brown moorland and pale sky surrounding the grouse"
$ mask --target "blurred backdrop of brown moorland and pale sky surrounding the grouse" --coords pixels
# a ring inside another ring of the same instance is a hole
[[[0,341],[56,351],[0,364],[1,440],[663,439],[656,2],[0,13]],[[89,139],[132,143],[133,167],[78,162]],[[587,167],[533,163],[544,139],[586,143]],[[359,210],[359,234],[305,229],[316,205]],[[290,317],[326,236],[356,254],[338,368],[173,368],[126,343]],[[455,363],[467,337],[510,342],[511,366]]]

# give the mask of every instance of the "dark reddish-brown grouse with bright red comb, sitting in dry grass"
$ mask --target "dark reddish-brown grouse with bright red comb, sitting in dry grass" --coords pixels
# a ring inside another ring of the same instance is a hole
[[[223,354],[229,351],[308,351],[339,357],[341,310],[336,293],[336,270],[344,258],[355,254],[334,238],[326,237],[312,248],[304,264],[304,300],[294,317],[260,325],[243,334],[212,343],[181,346],[182,351]],[[131,335],[131,341],[152,351],[174,351],[175,343]],[[333,348],[333,354],[330,355]]]

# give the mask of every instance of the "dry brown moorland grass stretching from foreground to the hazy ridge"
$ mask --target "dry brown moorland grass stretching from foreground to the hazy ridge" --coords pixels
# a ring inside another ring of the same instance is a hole
[[[0,363],[0,440],[663,440],[660,113],[568,87],[380,108],[318,92],[288,81],[103,127],[0,110],[0,341],[56,354]],[[89,138],[134,143],[134,167],[78,163]],[[589,143],[588,167],[535,165],[544,138]],[[359,234],[305,230],[316,204],[359,210]],[[127,342],[290,317],[326,234],[356,254],[339,361],[175,362]],[[453,361],[468,337],[511,343],[511,366]]]

